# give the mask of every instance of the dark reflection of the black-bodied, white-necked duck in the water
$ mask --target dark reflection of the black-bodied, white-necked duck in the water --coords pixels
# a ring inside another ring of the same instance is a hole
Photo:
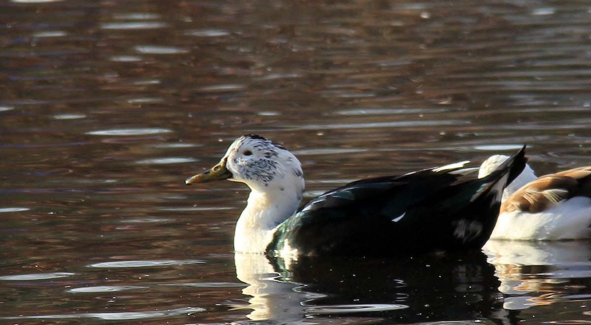
[[[243,293],[252,297],[248,317],[255,321],[513,323],[502,309],[495,268],[482,252],[295,261],[236,254],[235,262],[239,280],[249,284]]]

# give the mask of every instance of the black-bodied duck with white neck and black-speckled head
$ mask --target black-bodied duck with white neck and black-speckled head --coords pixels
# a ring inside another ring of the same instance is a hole
[[[250,189],[234,251],[291,256],[391,256],[480,250],[502,191],[525,167],[525,146],[478,178],[469,161],[348,183],[300,205],[301,163],[284,146],[248,134],[187,185],[231,180]],[[299,208],[298,208],[299,206]]]

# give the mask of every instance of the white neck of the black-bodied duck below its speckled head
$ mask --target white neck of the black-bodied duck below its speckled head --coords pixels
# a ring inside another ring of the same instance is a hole
[[[303,192],[303,181],[301,185],[291,184],[291,188],[269,184],[264,191],[252,189],[236,222],[234,250],[264,253],[275,228],[296,212]]]

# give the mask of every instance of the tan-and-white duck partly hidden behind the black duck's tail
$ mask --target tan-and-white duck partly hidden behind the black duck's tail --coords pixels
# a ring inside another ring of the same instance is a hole
[[[479,169],[488,175],[509,159],[494,155]],[[526,164],[504,190],[491,239],[553,241],[591,238],[591,166],[540,177]]]

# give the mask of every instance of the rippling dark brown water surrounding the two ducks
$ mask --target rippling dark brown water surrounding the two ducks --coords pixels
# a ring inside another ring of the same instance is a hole
[[[586,1],[0,3],[0,323],[591,323],[587,241],[397,260],[234,256],[235,137],[307,196],[511,153],[589,165]]]

